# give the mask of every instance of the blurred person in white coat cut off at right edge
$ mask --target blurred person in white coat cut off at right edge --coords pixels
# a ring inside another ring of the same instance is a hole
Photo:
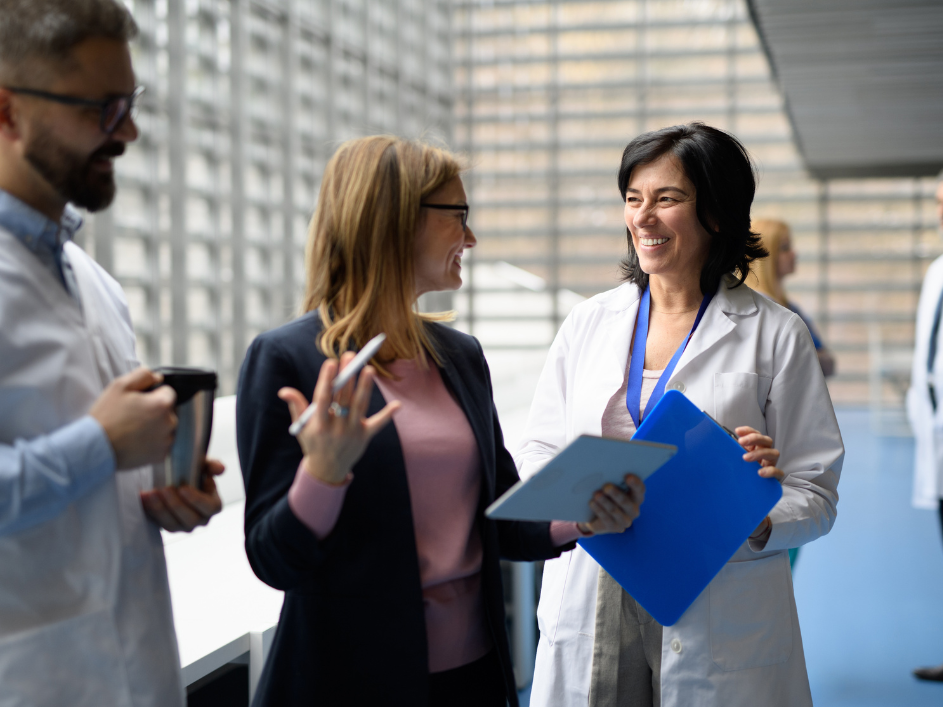
[[[937,219],[943,232],[943,175],[936,189]],[[914,433],[914,494],[917,508],[937,510],[943,527],[943,256],[927,269],[917,305],[916,341],[907,417]],[[943,682],[943,665],[914,670],[921,680]]]

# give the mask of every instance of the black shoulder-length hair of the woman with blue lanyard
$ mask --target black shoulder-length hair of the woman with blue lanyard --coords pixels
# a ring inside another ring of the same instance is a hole
[[[701,269],[701,292],[716,292],[727,273],[735,273],[737,284],[743,284],[750,273],[750,263],[768,255],[760,237],[750,231],[756,173],[746,148],[730,133],[703,123],[643,133],[622,153],[619,167],[622,201],[633,170],[668,154],[678,161],[694,185],[697,218],[711,236],[707,261]],[[639,267],[628,226],[625,234],[629,252],[622,260],[623,279],[644,290],[648,287],[648,275]]]

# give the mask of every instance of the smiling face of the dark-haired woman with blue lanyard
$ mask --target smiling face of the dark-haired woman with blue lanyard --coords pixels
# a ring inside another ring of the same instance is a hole
[[[694,185],[671,155],[632,171],[625,225],[639,266],[668,282],[700,282],[710,234],[697,218]]]

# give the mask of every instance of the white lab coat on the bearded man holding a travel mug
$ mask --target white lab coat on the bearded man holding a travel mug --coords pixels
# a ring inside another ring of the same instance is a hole
[[[0,230],[0,441],[32,439],[85,415],[135,368],[118,284],[66,249],[73,300]],[[122,471],[52,520],[0,535],[0,706],[182,707],[160,531]]]

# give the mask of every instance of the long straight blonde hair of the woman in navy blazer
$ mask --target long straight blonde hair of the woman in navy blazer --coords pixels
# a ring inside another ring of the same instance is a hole
[[[392,136],[342,144],[324,170],[305,249],[307,283],[302,309],[318,310],[324,329],[318,347],[328,357],[361,347],[381,331],[375,357],[441,363],[424,323],[449,312],[420,314],[413,272],[423,198],[459,176],[445,150]]]

